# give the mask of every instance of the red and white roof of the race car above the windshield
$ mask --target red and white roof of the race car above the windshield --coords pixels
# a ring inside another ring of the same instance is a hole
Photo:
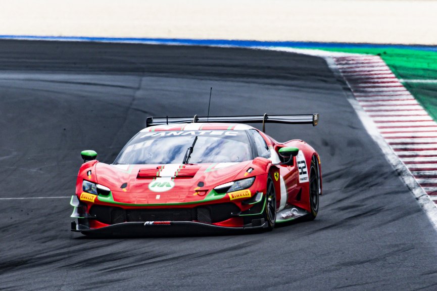
[[[164,131],[164,130],[246,130],[254,127],[241,123],[177,123],[149,126],[141,130],[144,131]]]

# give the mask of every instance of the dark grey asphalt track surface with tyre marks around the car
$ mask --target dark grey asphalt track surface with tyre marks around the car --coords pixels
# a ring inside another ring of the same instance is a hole
[[[69,198],[0,200],[2,290],[435,290],[436,234],[324,60],[192,46],[0,42],[0,198],[74,193],[148,116],[320,113],[267,125],[322,160],[319,216],[243,235],[88,238]]]

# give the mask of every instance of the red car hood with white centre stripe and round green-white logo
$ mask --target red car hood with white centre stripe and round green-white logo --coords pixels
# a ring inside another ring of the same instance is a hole
[[[214,164],[95,165],[99,184],[111,189],[114,202],[189,203],[205,199],[214,187],[232,181],[252,161]]]

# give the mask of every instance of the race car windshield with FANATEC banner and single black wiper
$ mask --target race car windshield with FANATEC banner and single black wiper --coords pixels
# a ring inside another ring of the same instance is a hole
[[[114,164],[181,164],[198,137],[190,164],[242,162],[252,159],[244,130],[140,132],[126,144]]]

